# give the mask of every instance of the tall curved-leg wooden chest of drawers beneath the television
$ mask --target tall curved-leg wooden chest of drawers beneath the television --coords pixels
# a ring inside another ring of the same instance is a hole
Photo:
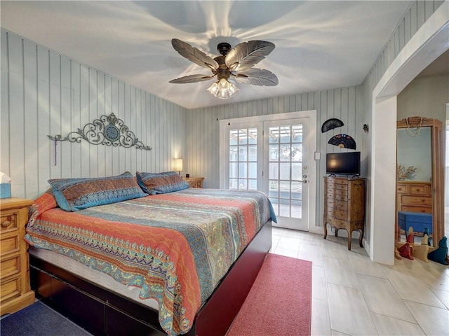
[[[335,228],[335,237],[339,229],[348,232],[348,250],[351,249],[351,237],[354,230],[360,232],[358,243],[363,247],[365,223],[365,179],[342,177],[324,178],[324,239],[328,236],[327,224]]]

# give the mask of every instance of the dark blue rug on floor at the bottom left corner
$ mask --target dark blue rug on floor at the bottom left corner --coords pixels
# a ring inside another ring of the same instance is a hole
[[[89,332],[47,307],[42,302],[5,316],[0,320],[1,335],[88,336]]]

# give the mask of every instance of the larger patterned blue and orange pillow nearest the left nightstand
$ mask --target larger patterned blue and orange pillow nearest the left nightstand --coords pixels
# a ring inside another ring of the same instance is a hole
[[[59,207],[66,211],[147,196],[130,172],[87,179],[50,179],[48,183],[53,188]]]

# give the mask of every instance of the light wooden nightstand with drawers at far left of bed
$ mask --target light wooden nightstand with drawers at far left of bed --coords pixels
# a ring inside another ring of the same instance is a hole
[[[23,240],[32,200],[0,200],[0,315],[13,313],[34,302],[29,286],[28,244]]]

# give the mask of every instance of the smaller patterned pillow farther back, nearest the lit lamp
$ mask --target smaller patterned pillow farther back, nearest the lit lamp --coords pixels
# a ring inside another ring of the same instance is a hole
[[[149,195],[171,193],[189,188],[177,172],[140,173],[135,172],[139,186]]]

